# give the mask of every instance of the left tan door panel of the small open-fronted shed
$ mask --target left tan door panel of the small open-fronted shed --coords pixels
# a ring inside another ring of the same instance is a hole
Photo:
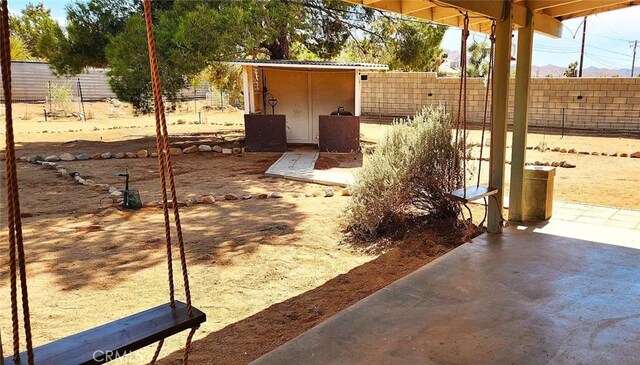
[[[265,75],[269,93],[278,100],[276,114],[287,116],[287,142],[312,143],[308,72],[265,68]],[[267,113],[271,113],[268,105]]]

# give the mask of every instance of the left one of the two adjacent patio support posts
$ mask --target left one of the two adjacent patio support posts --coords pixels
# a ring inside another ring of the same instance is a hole
[[[489,199],[487,231],[502,232],[504,194],[504,162],[509,106],[509,74],[511,72],[512,2],[504,1],[504,17],[496,23],[496,54],[493,80],[493,123],[491,125],[491,162],[489,181],[498,193]]]

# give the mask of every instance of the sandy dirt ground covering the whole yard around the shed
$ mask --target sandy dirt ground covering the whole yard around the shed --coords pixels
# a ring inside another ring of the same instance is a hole
[[[18,156],[153,150],[151,116],[134,117],[127,111],[114,118],[100,118],[95,117],[101,114],[98,111],[108,112],[110,106],[93,107],[97,110],[94,118],[86,122],[77,118],[44,122],[36,112],[25,113],[25,118],[15,123]],[[21,108],[29,105],[16,105],[15,110]],[[193,110],[184,111],[184,107],[168,114],[174,145],[240,143],[242,112],[207,111],[204,119],[201,114],[196,121]],[[364,138],[375,141],[387,128],[363,125],[362,131]],[[549,147],[640,150],[638,140],[594,137],[560,140],[558,136],[530,135],[529,145],[542,139]],[[528,153],[529,161],[567,160],[577,165],[575,169],[558,169],[556,199],[640,205],[634,189],[634,182],[640,179],[640,160]],[[417,229],[395,237],[386,253],[349,244],[343,234],[349,198],[341,194],[305,197],[305,193],[324,187],[264,176],[278,157],[273,153],[240,157],[194,153],[174,158],[180,200],[208,194],[284,195],[282,199],[220,200],[181,209],[194,304],[208,316],[195,336],[193,363],[249,362],[462,241],[452,222],[422,222],[414,227]],[[366,155],[323,154],[318,168],[357,168],[366,162]],[[140,190],[142,199],[159,199],[156,159],[62,164],[96,183],[117,186],[123,181],[114,173],[129,168],[131,185]],[[160,210],[124,213],[102,209],[99,202],[105,193],[31,164],[19,164],[19,178],[36,345],[167,301]],[[6,299],[7,259],[6,255],[0,257],[0,292]],[[177,262],[174,270],[179,272]],[[178,285],[178,293],[181,288]],[[178,298],[183,298],[182,294]],[[0,301],[5,353],[11,338],[8,305],[8,300]],[[185,335],[165,343],[162,363],[179,363]],[[146,363],[153,350],[146,348],[118,363]]]

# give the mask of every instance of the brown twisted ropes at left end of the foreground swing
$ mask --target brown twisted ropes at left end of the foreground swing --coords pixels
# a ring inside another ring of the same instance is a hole
[[[2,68],[2,88],[5,100],[6,125],[6,176],[7,176],[7,220],[9,228],[9,271],[11,282],[11,321],[13,330],[13,359],[20,360],[20,321],[18,315],[17,280],[20,276],[20,296],[22,298],[23,328],[27,346],[28,364],[34,364],[31,319],[29,311],[29,293],[27,288],[27,270],[22,238],[22,220],[20,217],[20,198],[18,193],[18,173],[16,163],[15,140],[13,135],[13,113],[11,102],[11,47],[9,41],[9,9],[6,0],[0,5],[0,67]]]

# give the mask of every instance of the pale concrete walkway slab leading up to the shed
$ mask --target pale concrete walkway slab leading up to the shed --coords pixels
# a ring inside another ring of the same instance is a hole
[[[318,156],[315,151],[285,152],[265,175],[330,186],[346,187],[355,183],[353,173],[345,169],[315,170]]]

